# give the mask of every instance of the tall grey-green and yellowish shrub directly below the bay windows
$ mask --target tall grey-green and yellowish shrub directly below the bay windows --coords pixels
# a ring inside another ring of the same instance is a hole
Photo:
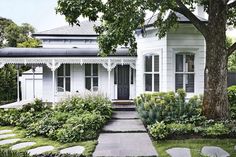
[[[201,99],[197,96],[186,101],[186,93],[183,90],[174,92],[159,92],[141,94],[135,99],[137,111],[145,124],[153,124],[156,121],[185,123],[201,122]]]

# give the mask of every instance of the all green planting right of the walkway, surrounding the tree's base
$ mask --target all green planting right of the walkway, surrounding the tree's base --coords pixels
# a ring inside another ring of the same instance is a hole
[[[202,98],[186,99],[184,90],[145,93],[135,99],[137,111],[155,139],[236,137],[236,87],[228,89],[231,119],[209,120],[202,115]]]

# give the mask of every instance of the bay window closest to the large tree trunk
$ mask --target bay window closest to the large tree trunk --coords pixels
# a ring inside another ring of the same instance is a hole
[[[176,54],[175,90],[194,92],[194,55]]]

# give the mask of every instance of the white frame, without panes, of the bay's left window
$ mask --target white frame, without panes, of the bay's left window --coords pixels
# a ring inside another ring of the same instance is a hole
[[[158,72],[155,71],[155,56],[158,56]],[[146,72],[146,57],[152,57],[152,71]],[[152,76],[152,90],[146,90],[146,75],[149,74]],[[159,89],[155,91],[155,75],[159,76]],[[160,91],[160,55],[159,54],[146,54],[144,55],[144,90],[145,92],[159,92]]]

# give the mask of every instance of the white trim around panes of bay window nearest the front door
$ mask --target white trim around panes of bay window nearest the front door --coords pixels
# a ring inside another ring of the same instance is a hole
[[[147,56],[151,56],[152,57],[152,71],[151,72],[146,72],[146,57]],[[158,72],[156,72],[156,71],[154,71],[154,69],[155,69],[155,67],[154,67],[154,57],[155,56],[158,56],[158,58],[159,58],[159,71]],[[145,54],[144,55],[144,90],[145,90],[145,92],[159,92],[160,91],[160,82],[161,82],[161,77],[160,77],[160,71],[161,71],[161,68],[160,68],[160,60],[161,60],[161,57],[160,57],[160,54],[154,54],[154,53],[150,53],[150,54]],[[146,78],[145,78],[145,75],[146,74],[151,74],[152,75],[152,91],[147,91],[146,90]],[[158,74],[159,75],[159,91],[155,91],[154,90],[154,83],[155,83],[155,79],[154,79],[154,76],[155,76],[155,74]]]

